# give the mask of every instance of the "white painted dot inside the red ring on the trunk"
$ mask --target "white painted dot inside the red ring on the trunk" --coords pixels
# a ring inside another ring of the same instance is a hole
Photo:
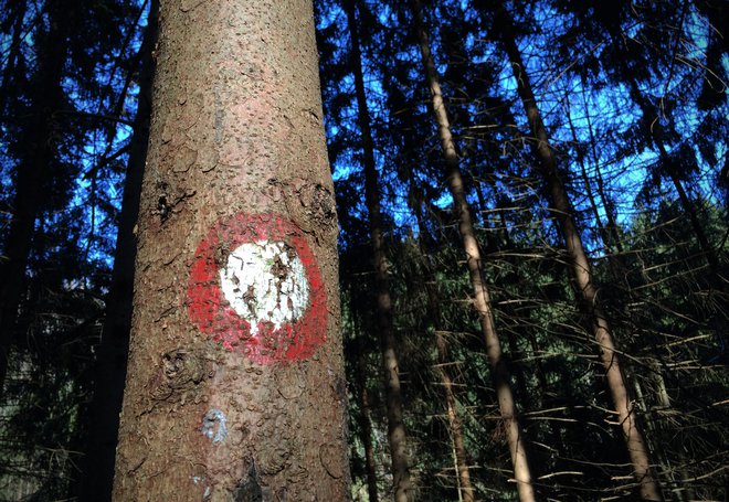
[[[220,270],[231,308],[258,334],[258,322],[274,329],[296,321],[309,303],[309,285],[298,254],[283,242],[260,241],[236,247]]]

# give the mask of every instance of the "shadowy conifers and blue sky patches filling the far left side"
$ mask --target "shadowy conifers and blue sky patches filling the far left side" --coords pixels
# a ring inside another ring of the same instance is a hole
[[[76,489],[144,9],[126,0],[0,8],[1,500]]]

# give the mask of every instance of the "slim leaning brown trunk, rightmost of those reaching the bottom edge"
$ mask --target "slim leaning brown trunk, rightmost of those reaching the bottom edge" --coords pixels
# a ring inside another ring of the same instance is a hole
[[[647,442],[637,425],[637,410],[632,405],[627,385],[621,371],[615,341],[598,298],[598,288],[592,278],[590,261],[582,245],[582,237],[574,222],[569,195],[557,171],[557,159],[549,145],[547,130],[537,107],[529,76],[524,70],[521,54],[516,44],[514,21],[508,12],[500,10],[497,24],[501,29],[501,41],[514,71],[517,92],[527,114],[535,153],[541,162],[540,174],[547,183],[552,202],[550,211],[559,222],[578,291],[582,298],[582,305],[592,317],[592,329],[600,348],[600,360],[605,369],[608,386],[620,417],[623,437],[633,464],[633,472],[640,483],[641,496],[644,500],[663,500],[658,480],[651,468]]]

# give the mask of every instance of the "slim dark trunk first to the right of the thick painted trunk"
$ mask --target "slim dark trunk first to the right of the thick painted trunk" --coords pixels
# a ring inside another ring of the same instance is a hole
[[[370,224],[370,243],[372,246],[372,265],[374,267],[374,288],[377,293],[377,325],[382,351],[384,372],[384,394],[388,408],[388,438],[392,457],[392,482],[395,502],[406,502],[412,484],[410,481],[410,460],[402,413],[402,391],[398,364],[395,334],[392,325],[392,299],[390,296],[390,279],[382,234],[382,215],[380,213],[380,188],[377,168],[374,165],[374,146],[370,128],[370,113],[364,94],[362,76],[362,55],[359,47],[359,33],[355,0],[345,0],[347,24],[352,45],[352,67],[355,73],[355,89],[359,110],[359,128],[362,133],[362,157],[364,168],[364,197]]]

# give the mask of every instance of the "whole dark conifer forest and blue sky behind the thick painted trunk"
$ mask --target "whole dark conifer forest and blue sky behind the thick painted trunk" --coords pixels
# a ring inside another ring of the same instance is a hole
[[[315,1],[353,500],[726,500],[727,7]],[[156,9],[0,1],[0,500],[116,434]]]

